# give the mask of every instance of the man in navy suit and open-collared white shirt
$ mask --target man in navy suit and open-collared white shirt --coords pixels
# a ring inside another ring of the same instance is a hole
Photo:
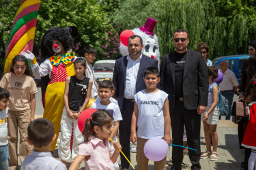
[[[115,97],[117,98],[123,120],[119,124],[119,138],[122,151],[130,160],[130,126],[134,109],[134,95],[145,89],[143,73],[147,67],[156,67],[156,60],[141,53],[143,41],[138,35],[128,39],[128,56],[115,61],[113,83],[115,84]],[[128,169],[129,163],[121,155],[122,169]]]

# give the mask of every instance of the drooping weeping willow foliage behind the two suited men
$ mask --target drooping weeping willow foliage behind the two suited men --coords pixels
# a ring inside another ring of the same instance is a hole
[[[160,53],[175,50],[173,33],[186,29],[195,49],[204,41],[210,46],[210,58],[232,54],[247,54],[248,42],[256,38],[255,0],[127,0],[119,5],[113,20],[120,31],[142,26],[148,16],[158,23]],[[139,4],[139,10],[138,9]]]

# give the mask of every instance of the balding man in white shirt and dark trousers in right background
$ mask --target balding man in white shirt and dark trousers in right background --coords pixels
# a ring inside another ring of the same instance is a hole
[[[229,101],[229,114],[226,116],[226,120],[230,120],[233,95],[238,89],[239,84],[235,73],[229,69],[229,63],[227,63],[227,61],[221,61],[220,69],[221,72],[223,72],[223,81],[219,84],[219,86],[221,88],[221,95],[223,95],[227,101]]]

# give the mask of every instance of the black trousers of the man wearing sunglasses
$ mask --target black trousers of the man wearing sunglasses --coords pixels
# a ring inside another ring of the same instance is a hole
[[[171,133],[173,144],[182,146],[184,124],[186,127],[186,137],[188,139],[188,148],[195,150],[188,150],[188,156],[192,163],[191,169],[201,169],[200,166],[200,127],[201,116],[197,114],[197,109],[188,110],[184,107],[183,101],[175,100],[174,112],[171,115]],[[182,150],[183,148],[173,146],[172,158],[173,166],[175,168],[182,167]]]

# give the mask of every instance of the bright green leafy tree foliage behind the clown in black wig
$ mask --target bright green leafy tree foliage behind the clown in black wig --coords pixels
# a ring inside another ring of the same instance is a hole
[[[33,52],[38,54],[40,41],[47,29],[74,25],[79,31],[74,43],[81,42],[80,48],[76,52],[83,54],[83,47],[89,45],[98,50],[98,56],[100,57],[104,54],[104,50],[100,46],[104,42],[106,32],[113,29],[108,10],[112,7],[111,5],[117,7],[117,3],[114,2],[100,0],[40,1]],[[104,4],[109,6],[106,7]],[[0,5],[0,14],[3,14],[1,15],[3,17],[0,18],[0,36],[3,37],[0,44],[2,55],[5,53],[5,44],[8,42],[10,29],[20,1],[5,1],[1,2]]]

